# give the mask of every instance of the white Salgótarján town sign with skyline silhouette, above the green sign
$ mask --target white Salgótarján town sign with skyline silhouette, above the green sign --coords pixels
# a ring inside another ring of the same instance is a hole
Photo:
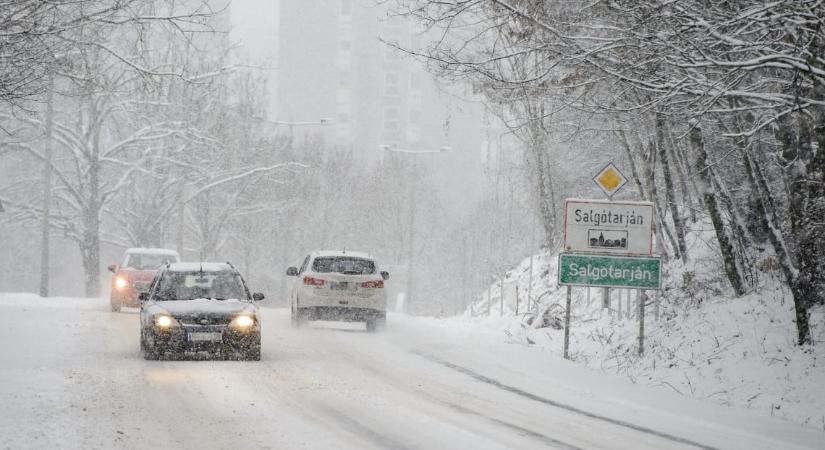
[[[564,251],[650,256],[653,203],[566,200]]]

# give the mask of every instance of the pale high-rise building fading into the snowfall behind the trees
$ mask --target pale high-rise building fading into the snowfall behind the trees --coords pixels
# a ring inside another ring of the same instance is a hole
[[[394,48],[416,48],[423,37],[394,18],[380,2],[280,0],[277,94],[270,119],[317,122],[295,127],[323,133],[356,157],[379,162],[390,145],[447,154],[416,158],[454,210],[468,208],[483,192],[483,145],[489,125],[480,102],[462,86],[438,86],[421,61]],[[388,45],[389,44],[389,45]],[[457,92],[458,91],[458,92]],[[410,163],[413,162],[409,159]],[[456,176],[462,175],[462,176]]]

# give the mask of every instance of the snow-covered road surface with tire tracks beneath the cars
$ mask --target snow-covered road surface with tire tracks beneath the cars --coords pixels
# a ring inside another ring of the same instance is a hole
[[[262,311],[260,362],[158,362],[134,311],[0,294],[0,448],[825,448],[458,320],[373,335]]]

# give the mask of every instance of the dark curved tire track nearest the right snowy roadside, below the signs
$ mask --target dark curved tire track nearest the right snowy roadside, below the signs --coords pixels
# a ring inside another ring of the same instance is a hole
[[[449,361],[444,361],[441,358],[438,358],[436,356],[433,356],[433,355],[430,355],[430,354],[427,354],[427,353],[424,353],[424,352],[421,352],[421,351],[418,351],[418,350],[410,350],[410,352],[415,354],[415,355],[418,355],[418,356],[420,356],[420,357],[422,357],[422,358],[424,358],[428,361],[432,361],[436,364],[440,364],[444,367],[447,367],[448,369],[452,369],[456,372],[468,375],[471,378],[473,378],[477,381],[480,381],[482,383],[486,383],[486,384],[489,384],[491,386],[495,386],[495,387],[497,387],[501,390],[516,394],[518,396],[521,396],[521,397],[524,397],[524,398],[527,398],[527,399],[530,399],[530,400],[533,400],[533,401],[536,401],[536,402],[539,402],[539,403],[543,403],[545,405],[550,405],[550,406],[553,406],[553,407],[556,407],[556,408],[564,409],[564,410],[572,412],[574,414],[579,414],[579,415],[582,415],[582,416],[585,416],[585,417],[588,417],[588,418],[591,418],[591,419],[607,422],[607,423],[610,423],[612,425],[617,425],[617,426],[620,426],[620,427],[629,428],[629,429],[632,429],[632,430],[635,430],[635,431],[639,431],[641,433],[646,433],[646,434],[650,434],[652,436],[657,436],[657,437],[667,439],[669,441],[676,442],[676,443],[679,443],[679,444],[690,445],[692,447],[701,448],[703,450],[718,450],[716,447],[711,447],[709,445],[701,444],[701,443],[698,443],[696,441],[692,441],[690,439],[686,439],[686,438],[679,437],[679,436],[674,436],[672,434],[665,433],[665,432],[658,431],[658,430],[654,430],[652,428],[648,428],[648,427],[644,427],[644,426],[641,426],[641,425],[636,425],[634,423],[626,422],[626,421],[623,421],[623,420],[614,419],[612,417],[607,417],[607,416],[603,416],[603,415],[600,415],[600,414],[592,413],[592,412],[589,412],[589,411],[585,411],[583,409],[576,408],[575,406],[572,406],[572,405],[568,405],[568,404],[565,404],[565,403],[560,403],[560,402],[557,402],[557,401],[554,401],[554,400],[550,400],[548,398],[540,397],[538,395],[531,394],[527,391],[523,391],[523,390],[521,390],[517,387],[504,384],[504,383],[502,383],[498,380],[495,380],[493,378],[489,378],[489,377],[486,377],[484,375],[481,375],[480,373],[475,372],[473,370],[470,370],[466,367],[459,366],[457,364],[453,364]]]

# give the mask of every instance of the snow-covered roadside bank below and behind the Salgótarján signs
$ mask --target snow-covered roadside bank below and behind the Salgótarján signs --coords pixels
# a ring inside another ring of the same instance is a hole
[[[618,374],[633,383],[660,386],[681,395],[722,405],[745,407],[825,430],[825,307],[812,311],[812,348],[795,345],[793,300],[778,272],[758,271],[758,288],[736,298],[723,275],[709,224],[688,236],[691,259],[663,268],[664,289],[645,319],[645,354],[639,356],[635,293],[615,290],[610,308],[601,308],[602,292],[573,290],[571,359],[595,370]],[[557,254],[533,259],[532,297],[547,311],[563,317],[565,288],[556,283]],[[507,342],[533,346],[562,357],[564,331],[534,328],[525,314],[530,279],[529,258],[507,274],[517,283],[520,304],[501,302],[501,283],[481,293],[461,322],[498,329]],[[504,314],[500,314],[501,311]],[[552,320],[550,321],[553,324]]]

